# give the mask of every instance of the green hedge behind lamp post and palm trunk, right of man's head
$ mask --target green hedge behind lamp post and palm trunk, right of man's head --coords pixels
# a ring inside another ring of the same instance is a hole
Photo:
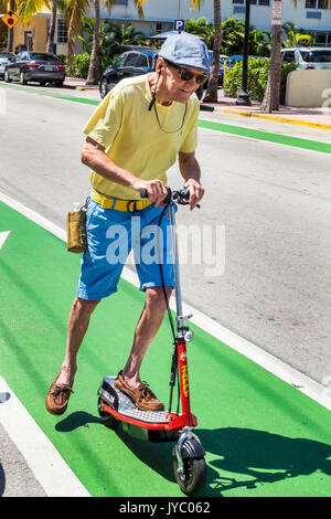
[[[247,91],[250,99],[263,100],[268,82],[270,60],[248,59]],[[295,71],[295,63],[281,64],[280,104],[285,104],[286,80],[289,72]],[[237,62],[233,68],[227,68],[224,83],[224,95],[237,97],[242,89],[243,62]]]

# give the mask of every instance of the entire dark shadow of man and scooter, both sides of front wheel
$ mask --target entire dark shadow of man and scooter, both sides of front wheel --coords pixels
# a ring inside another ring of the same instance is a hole
[[[70,432],[99,423],[97,416],[85,412],[72,413],[56,424],[60,432]],[[150,443],[137,439],[119,426],[116,432],[132,455],[166,479],[174,481],[172,449],[175,443]],[[316,470],[331,476],[331,445],[306,438],[290,438],[266,431],[224,427],[195,430],[207,455],[207,481],[203,496],[222,496],[232,488],[254,489],[258,484],[308,476]],[[213,455],[215,456],[213,459]],[[228,477],[238,474],[238,478]],[[223,476],[224,474],[224,476]],[[247,478],[243,479],[243,475]]]

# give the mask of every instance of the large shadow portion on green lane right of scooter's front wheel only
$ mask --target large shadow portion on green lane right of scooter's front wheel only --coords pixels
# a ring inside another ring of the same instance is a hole
[[[331,445],[306,438],[290,438],[266,431],[225,427],[197,432],[205,451],[217,457],[210,462],[210,495],[222,495],[231,488],[255,488],[316,470],[331,476]],[[243,480],[223,477],[222,473],[247,475]]]

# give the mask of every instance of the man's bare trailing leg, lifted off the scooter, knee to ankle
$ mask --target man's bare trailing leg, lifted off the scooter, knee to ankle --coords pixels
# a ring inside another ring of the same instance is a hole
[[[67,341],[65,357],[62,364],[61,374],[56,384],[70,385],[72,388],[77,371],[77,353],[86,330],[89,318],[100,299],[88,300],[76,297],[67,322]]]

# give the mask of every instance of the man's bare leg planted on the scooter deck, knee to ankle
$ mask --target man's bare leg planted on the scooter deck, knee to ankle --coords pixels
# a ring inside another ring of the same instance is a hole
[[[166,292],[169,299],[172,288],[166,287]],[[134,346],[121,373],[124,380],[131,389],[136,389],[141,384],[140,366],[149,345],[162,324],[166,310],[167,306],[162,287],[147,288],[146,304],[136,328]]]

